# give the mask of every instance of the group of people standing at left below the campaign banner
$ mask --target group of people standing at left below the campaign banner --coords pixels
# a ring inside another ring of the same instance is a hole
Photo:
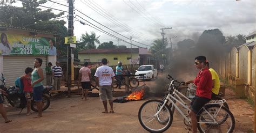
[[[26,115],[31,115],[31,99],[36,102],[36,106],[38,109],[38,115],[36,117],[42,117],[42,109],[43,109],[43,102],[42,102],[42,95],[43,95],[43,83],[44,80],[43,76],[43,69],[41,68],[43,60],[41,58],[35,58],[34,60],[34,69],[28,67],[25,69],[25,74],[15,81],[15,86],[18,88],[19,93],[23,94],[26,99],[26,107],[27,113]],[[62,79],[63,72],[62,68],[59,66],[59,62],[56,62],[56,66],[51,68],[52,63],[49,62],[48,66],[45,68],[46,70],[46,84],[52,84],[52,77],[55,79],[55,89],[59,90],[60,88],[60,80]],[[6,92],[2,89],[0,91],[3,94]],[[11,122],[8,119],[5,108],[3,106],[3,100],[0,95],[0,113],[4,117],[5,123]]]

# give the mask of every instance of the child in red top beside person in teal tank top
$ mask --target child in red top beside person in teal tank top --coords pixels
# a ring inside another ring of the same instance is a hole
[[[33,69],[32,68],[26,68],[25,69],[25,75],[21,77],[22,83],[23,83],[23,91],[26,97],[26,115],[31,115],[31,95],[32,95],[32,86],[31,86],[31,73]]]

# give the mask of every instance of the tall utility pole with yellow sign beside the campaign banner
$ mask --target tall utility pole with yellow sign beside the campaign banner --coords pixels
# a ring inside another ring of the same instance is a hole
[[[68,23],[68,33],[69,36],[74,35],[74,26],[73,26],[73,0],[69,0],[69,23]],[[71,92],[71,52],[72,48],[70,44],[68,45],[68,97],[70,97]]]

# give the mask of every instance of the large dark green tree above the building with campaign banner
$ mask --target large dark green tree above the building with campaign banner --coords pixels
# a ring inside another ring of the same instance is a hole
[[[0,6],[0,25],[57,32],[61,34],[56,42],[57,56],[65,56],[64,36],[68,36],[68,30],[65,27],[66,22],[64,20],[52,20],[63,16],[64,12],[55,14],[51,9],[43,11],[39,8],[39,4],[46,3],[46,0],[21,0],[22,7],[12,6],[13,2],[15,1],[11,1],[10,5],[2,3],[3,6]]]

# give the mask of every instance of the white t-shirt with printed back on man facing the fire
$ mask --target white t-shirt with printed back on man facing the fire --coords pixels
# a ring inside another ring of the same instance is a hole
[[[95,72],[95,77],[99,77],[99,85],[111,85],[112,77],[114,77],[114,71],[107,65],[97,68]]]

